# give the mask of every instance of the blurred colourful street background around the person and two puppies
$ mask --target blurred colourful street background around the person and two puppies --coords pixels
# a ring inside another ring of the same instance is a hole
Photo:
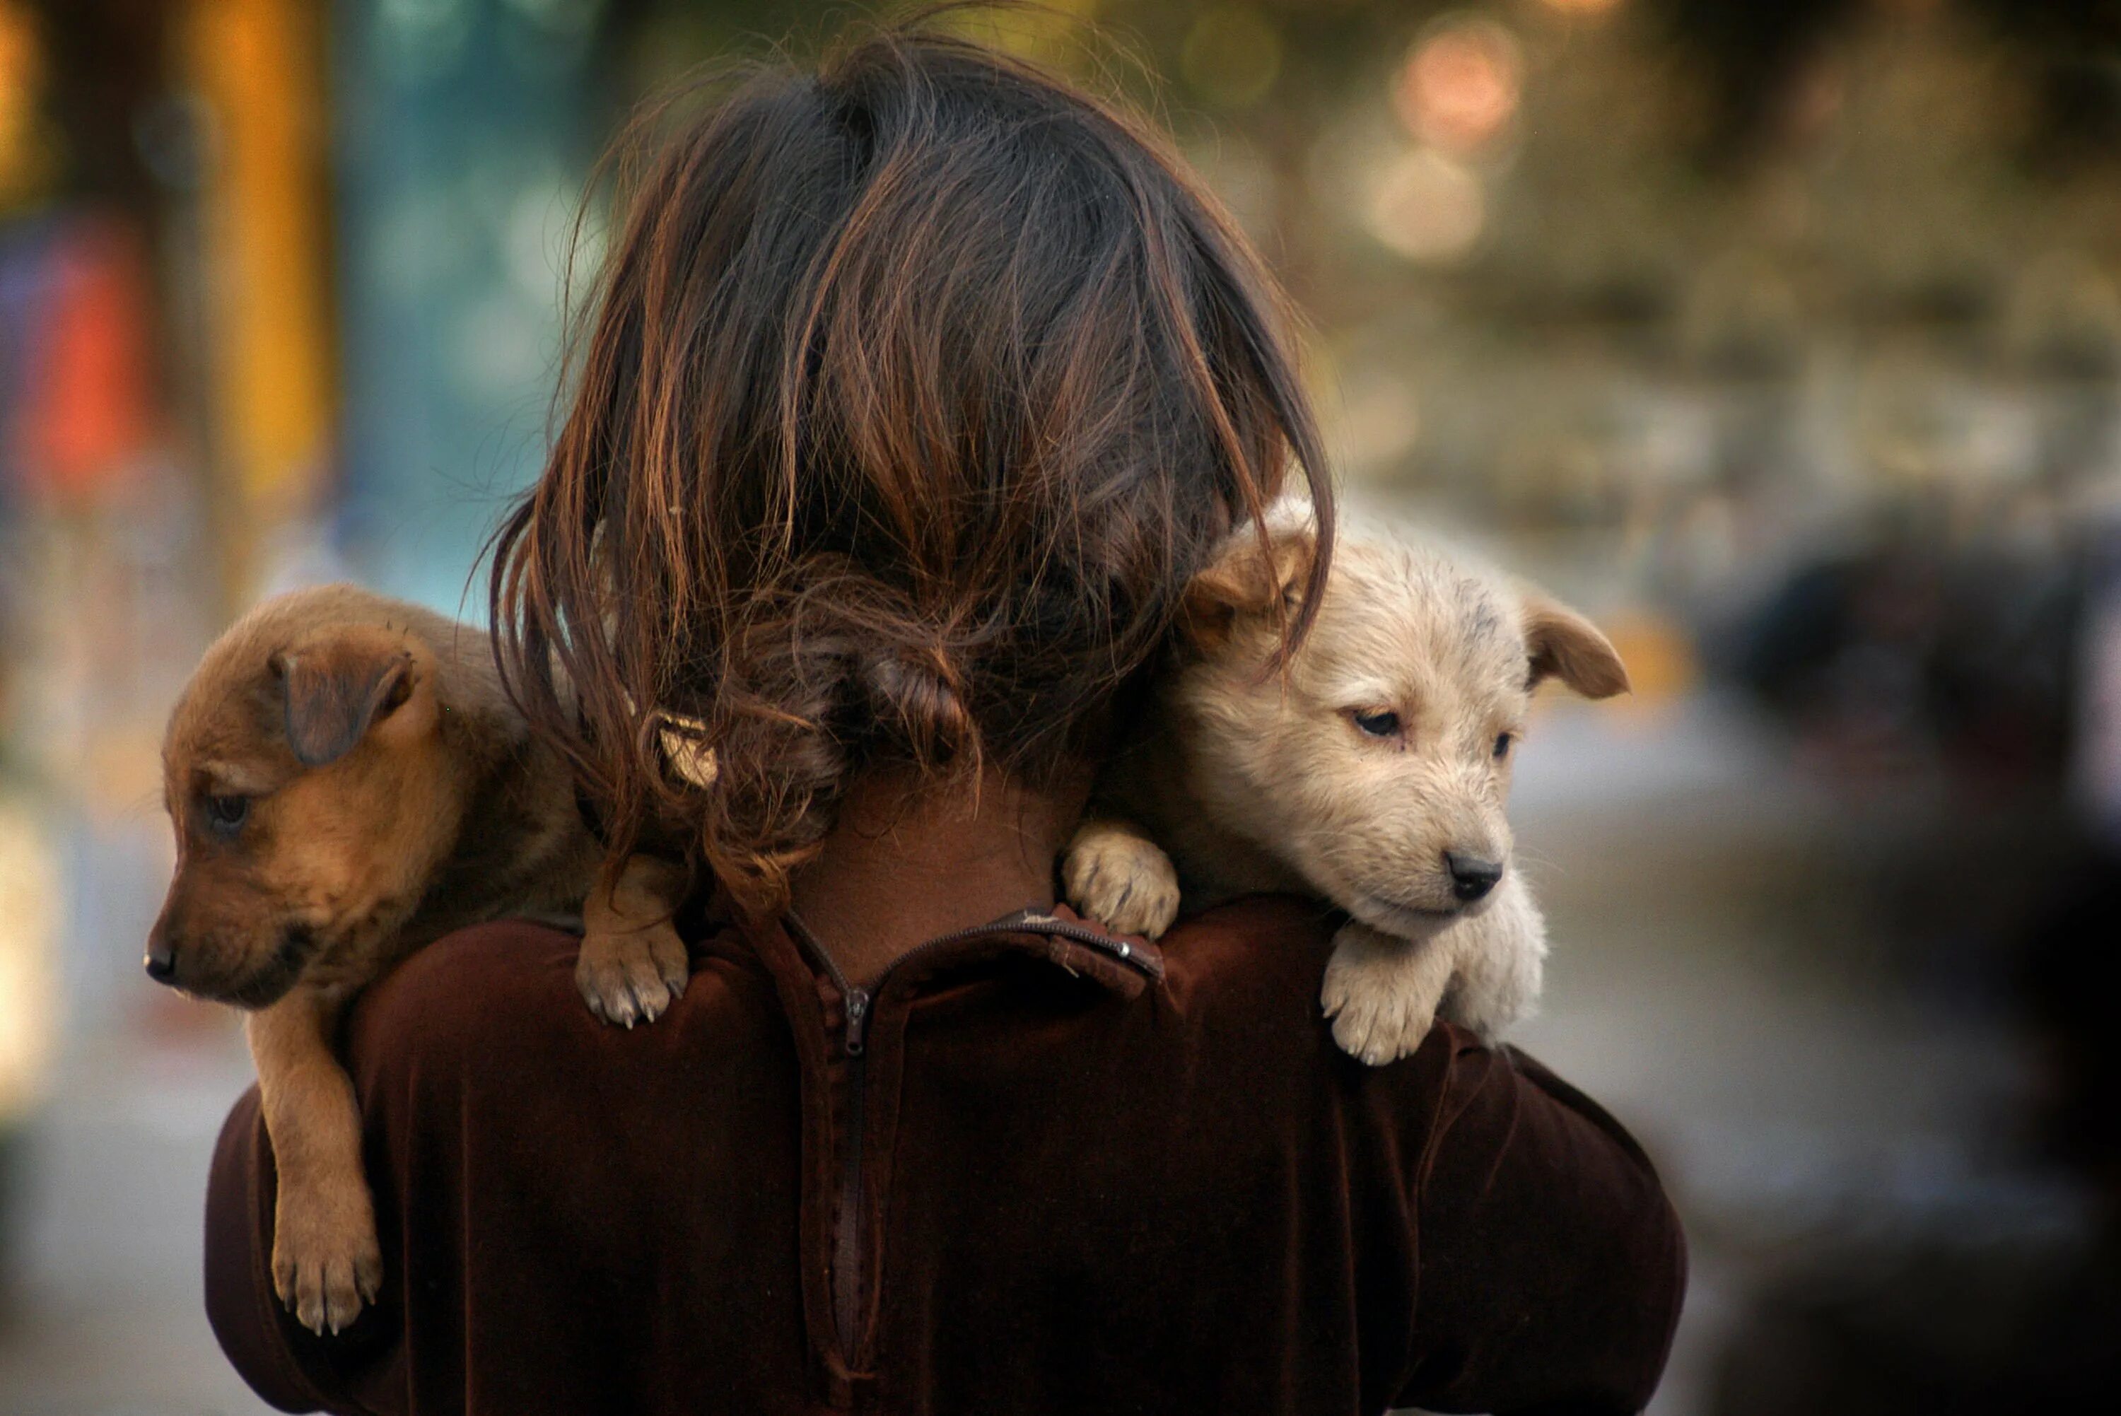
[[[197,651],[475,606],[600,144],[857,11],[0,0],[0,1410],[261,1410],[197,1297],[248,1060],[138,964]],[[2121,4],[959,23],[1177,131],[1353,500],[1627,655],[1519,769],[1521,1041],[1686,1213],[1659,1416],[2121,1410]]]

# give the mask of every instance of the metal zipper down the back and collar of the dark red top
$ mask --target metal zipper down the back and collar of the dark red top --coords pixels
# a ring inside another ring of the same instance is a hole
[[[855,988],[831,952],[819,943],[800,920],[793,916],[789,916],[789,920],[795,924],[791,931],[795,939],[817,958],[819,964],[823,964],[825,977],[829,977],[831,986],[840,990],[840,1007],[844,1011],[844,1022],[840,1024],[840,1049],[846,1058],[846,1160],[840,1164],[840,1204],[831,1246],[831,1323],[838,1329],[840,1355],[846,1365],[853,1367],[857,1361],[855,1346],[861,1340],[857,1325],[861,1323],[861,1253],[863,1227],[867,1223],[867,1215],[861,1204],[861,1151],[867,1140],[865,1090],[870,1009],[874,1007],[878,994],[884,992],[891,975],[923,954],[931,954],[940,948],[963,943],[965,939],[978,939],[980,935],[1010,933],[1060,935],[1103,954],[1111,954],[1114,958],[1133,964],[1152,977],[1162,971],[1150,964],[1147,958],[1135,954],[1133,945],[1124,939],[1111,939],[1092,928],[1069,924],[1067,920],[1056,920],[1035,909],[1024,909],[1022,914],[1005,916],[993,924],[976,924],[971,928],[937,935],[927,943],[914,945],[891,960],[891,967],[876,975],[876,984],[872,988]]]

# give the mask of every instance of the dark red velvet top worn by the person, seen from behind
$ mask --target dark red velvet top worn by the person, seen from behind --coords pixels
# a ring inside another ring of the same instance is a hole
[[[1162,948],[1027,918],[853,1009],[810,945],[725,931],[630,1032],[568,935],[464,931],[350,1022],[382,1306],[339,1338],[280,1310],[252,1092],[208,1191],[214,1331],[284,1410],[1642,1408],[1686,1272],[1648,1160],[1453,1028],[1340,1056],[1330,928],[1292,899]]]

